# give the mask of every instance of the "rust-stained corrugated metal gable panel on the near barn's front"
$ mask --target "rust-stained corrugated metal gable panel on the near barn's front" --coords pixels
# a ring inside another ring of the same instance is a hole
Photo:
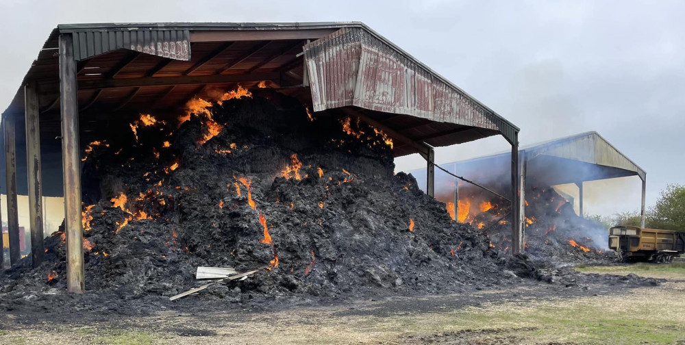
[[[518,127],[371,29],[340,29],[304,52],[314,111],[353,105],[495,129],[516,140]]]

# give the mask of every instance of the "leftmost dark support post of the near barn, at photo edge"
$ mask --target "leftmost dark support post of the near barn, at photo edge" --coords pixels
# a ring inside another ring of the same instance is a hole
[[[10,266],[21,259],[19,248],[19,214],[16,201],[16,133],[15,114],[5,114],[5,172],[7,177],[7,227],[10,238]]]

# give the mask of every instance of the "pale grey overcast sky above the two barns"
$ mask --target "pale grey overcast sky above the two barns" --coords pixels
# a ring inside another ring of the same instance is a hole
[[[685,183],[684,13],[685,1],[664,0],[1,0],[0,108],[58,23],[363,21],[521,127],[521,144],[598,131],[647,171],[651,205],[667,183]],[[505,149],[488,138],[436,159]],[[613,183],[622,193],[595,213],[637,209],[638,184]]]

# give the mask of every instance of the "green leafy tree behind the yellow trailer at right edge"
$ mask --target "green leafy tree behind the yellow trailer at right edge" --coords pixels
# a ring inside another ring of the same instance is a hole
[[[649,226],[685,232],[685,186],[669,184],[649,212]]]

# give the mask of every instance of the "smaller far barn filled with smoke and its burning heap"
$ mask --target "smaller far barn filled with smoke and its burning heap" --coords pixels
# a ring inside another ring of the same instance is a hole
[[[462,162],[441,164],[466,179],[490,190],[477,188],[451,175],[438,172],[436,199],[447,205],[459,222],[470,222],[490,236],[490,243],[507,251],[512,246],[508,219],[511,204],[493,192],[506,191],[501,181],[508,175],[506,154],[490,155]],[[519,226],[525,250],[542,257],[601,259],[606,256],[608,229],[584,219],[584,182],[637,176],[642,181],[642,222],[645,221],[646,174],[599,133],[590,131],[575,136],[525,146],[519,151]],[[414,171],[421,181],[423,170]],[[556,186],[577,186],[578,212],[574,196]],[[637,201],[636,201],[637,202]]]

